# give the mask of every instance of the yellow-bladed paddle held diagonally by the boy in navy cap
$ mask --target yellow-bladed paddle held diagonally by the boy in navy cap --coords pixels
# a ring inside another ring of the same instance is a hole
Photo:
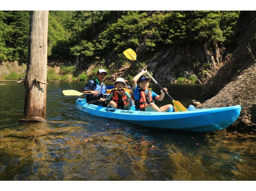
[[[134,60],[137,64],[140,65],[140,67],[141,67],[142,69],[144,69],[144,67],[139,63],[139,61],[136,60],[137,55],[136,55],[136,53],[135,53],[132,49],[127,49],[127,50],[125,50],[123,53],[124,53],[124,55],[125,55],[128,59]],[[164,88],[163,88],[162,86],[160,86],[160,85],[157,83],[157,81],[156,81],[148,72],[147,72],[147,74],[148,74],[148,76],[156,83],[156,85],[157,85],[161,90],[163,90],[163,92],[171,99],[171,101],[172,101],[172,103],[173,103],[173,105],[174,105],[175,111],[188,111],[179,101],[175,101],[168,93],[166,93],[166,92],[164,91]]]

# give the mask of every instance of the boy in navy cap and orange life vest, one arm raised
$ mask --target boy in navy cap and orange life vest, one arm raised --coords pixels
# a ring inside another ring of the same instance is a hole
[[[162,107],[157,107],[154,100],[162,101],[164,99],[164,92],[161,91],[161,95],[157,95],[152,90],[148,90],[149,78],[143,74],[147,73],[146,69],[143,69],[132,79],[133,97],[136,110],[140,111],[158,111],[158,112],[172,112],[174,108],[172,104],[167,104]],[[167,92],[167,88],[164,88]],[[168,92],[167,92],[168,93]]]

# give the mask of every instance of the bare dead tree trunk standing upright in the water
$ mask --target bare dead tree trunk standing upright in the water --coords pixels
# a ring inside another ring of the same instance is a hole
[[[24,118],[42,122],[46,116],[47,32],[49,11],[30,11]]]

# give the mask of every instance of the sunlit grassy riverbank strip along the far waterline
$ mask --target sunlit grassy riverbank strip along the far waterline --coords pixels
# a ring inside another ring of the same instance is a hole
[[[126,71],[128,69],[119,69],[113,70],[111,73],[110,69],[106,67],[89,67],[87,70],[80,71],[79,68],[73,63],[48,63],[47,66],[47,81],[50,80],[59,80],[59,81],[87,81],[96,77],[96,73],[100,68],[104,68],[108,75],[106,76],[106,81],[113,82],[117,77],[123,77],[128,81],[132,81],[133,75],[126,76]],[[2,62],[0,64],[0,80],[20,80],[21,78],[26,76],[27,65],[21,64],[17,61],[14,62]],[[134,71],[136,72],[136,71]],[[184,83],[184,84],[194,84],[199,83],[202,84],[200,80],[197,79],[195,75],[186,75],[184,77],[179,77],[175,80],[170,81],[170,83]]]

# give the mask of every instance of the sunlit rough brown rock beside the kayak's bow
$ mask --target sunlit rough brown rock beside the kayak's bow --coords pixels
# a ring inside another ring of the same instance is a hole
[[[256,61],[222,88],[211,99],[196,108],[241,105],[239,118],[228,129],[256,134]]]

